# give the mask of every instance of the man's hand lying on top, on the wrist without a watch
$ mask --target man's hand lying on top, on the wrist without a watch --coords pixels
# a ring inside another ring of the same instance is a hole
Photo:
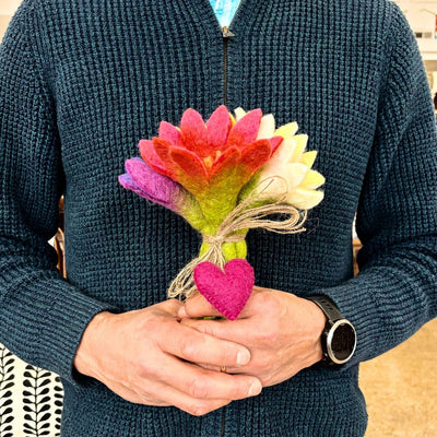
[[[101,312],[83,334],[74,366],[121,398],[146,405],[175,405],[202,415],[233,400],[259,394],[252,376],[206,369],[238,369],[249,351],[179,323],[176,299],[121,315]]]

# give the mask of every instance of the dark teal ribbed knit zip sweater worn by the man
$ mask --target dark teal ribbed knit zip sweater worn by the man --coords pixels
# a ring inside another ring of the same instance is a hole
[[[225,60],[208,0],[25,0],[0,47],[0,342],[61,375],[64,437],[362,436],[358,363],[437,314],[435,118],[398,8],[243,0],[231,31]],[[341,369],[192,417],[130,404],[72,361],[96,312],[165,299],[199,249],[180,217],[121,188],[125,160],[162,119],[187,107],[206,118],[226,94],[229,109],[296,120],[327,177],[305,234],[249,233],[257,284],[330,296],[358,344]],[[46,244],[62,193],[68,281]]]

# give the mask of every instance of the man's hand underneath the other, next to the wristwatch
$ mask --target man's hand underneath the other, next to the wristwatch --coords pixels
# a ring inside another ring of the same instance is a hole
[[[324,315],[312,302],[293,294],[253,287],[237,320],[193,319],[204,316],[220,314],[201,295],[187,299],[179,309],[184,326],[245,345],[250,362],[243,367],[227,366],[226,370],[256,376],[263,387],[282,382],[322,358]]]

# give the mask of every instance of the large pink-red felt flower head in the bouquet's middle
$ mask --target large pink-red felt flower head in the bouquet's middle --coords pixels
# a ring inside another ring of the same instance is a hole
[[[261,109],[255,109],[235,122],[220,106],[205,123],[198,111],[187,109],[179,128],[162,121],[158,137],[140,141],[141,156],[200,200],[212,190],[215,196],[223,190],[238,193],[283,140],[257,140],[261,118]]]

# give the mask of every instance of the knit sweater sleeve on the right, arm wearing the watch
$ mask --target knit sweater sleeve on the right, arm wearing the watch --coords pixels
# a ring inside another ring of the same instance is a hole
[[[437,316],[437,133],[421,55],[393,17],[378,121],[357,211],[359,274],[330,296],[357,330],[345,366],[373,358]]]

